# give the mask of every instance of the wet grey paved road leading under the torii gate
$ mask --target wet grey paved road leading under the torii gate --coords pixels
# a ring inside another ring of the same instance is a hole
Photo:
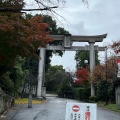
[[[66,102],[79,101],[49,96],[45,103],[33,105],[33,108],[28,108],[27,105],[16,106],[2,120],[65,120]],[[16,114],[10,118],[15,111]],[[120,114],[98,107],[97,120],[120,120]]]

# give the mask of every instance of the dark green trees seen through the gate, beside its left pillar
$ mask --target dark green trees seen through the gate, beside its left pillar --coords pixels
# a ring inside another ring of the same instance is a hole
[[[60,97],[73,98],[71,75],[66,73],[63,66],[50,66],[46,72],[47,91],[54,91]]]

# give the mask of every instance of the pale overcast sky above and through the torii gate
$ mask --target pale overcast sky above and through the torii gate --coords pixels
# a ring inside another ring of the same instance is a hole
[[[56,9],[56,12],[62,16],[57,16],[57,25],[64,27],[72,35],[107,33],[107,38],[103,42],[95,44],[99,46],[110,45],[113,41],[120,40],[120,0],[88,0],[88,4],[86,7],[82,0],[67,0],[64,8]],[[77,43],[78,46],[87,44]],[[62,57],[54,55],[51,64],[63,65],[66,70],[74,71],[76,66],[74,57],[75,51],[65,51]],[[104,53],[100,52],[99,59],[102,61],[104,58]]]

